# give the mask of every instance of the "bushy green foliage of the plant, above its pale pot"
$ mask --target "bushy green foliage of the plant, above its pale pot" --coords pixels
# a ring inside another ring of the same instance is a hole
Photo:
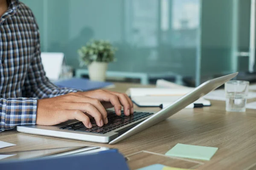
[[[85,46],[78,50],[80,64],[90,65],[93,61],[96,62],[113,62],[116,61],[114,48],[109,41],[105,40],[90,40]]]

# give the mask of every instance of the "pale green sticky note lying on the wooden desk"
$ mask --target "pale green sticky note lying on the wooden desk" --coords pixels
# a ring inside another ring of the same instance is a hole
[[[196,146],[196,145],[190,145],[190,144],[176,144],[165,155],[209,161],[217,150],[218,150],[218,147]]]

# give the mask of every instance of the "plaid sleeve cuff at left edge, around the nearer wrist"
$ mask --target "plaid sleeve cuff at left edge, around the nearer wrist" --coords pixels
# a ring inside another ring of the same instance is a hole
[[[0,99],[0,132],[17,125],[35,125],[37,99],[9,98]]]

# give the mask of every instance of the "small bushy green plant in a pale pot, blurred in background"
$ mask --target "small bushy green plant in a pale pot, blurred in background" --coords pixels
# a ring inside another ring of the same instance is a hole
[[[109,41],[91,40],[78,50],[80,64],[87,65],[89,77],[95,81],[105,81],[108,63],[115,61],[114,48]]]

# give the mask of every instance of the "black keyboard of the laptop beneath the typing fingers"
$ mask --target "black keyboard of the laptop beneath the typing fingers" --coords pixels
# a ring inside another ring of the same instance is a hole
[[[97,126],[95,120],[92,118],[92,119],[90,119],[90,122],[93,127],[91,127],[90,129],[85,127],[82,122],[76,122],[71,125],[60,127],[60,129],[75,130],[75,131],[79,131],[79,132],[105,134],[105,133],[108,133],[108,132],[115,130],[119,127],[125,126],[129,123],[143,119],[144,117],[147,117],[152,114],[154,114],[154,113],[134,112],[134,114],[131,114],[130,116],[125,116],[122,111],[121,116],[117,116],[116,113],[113,112],[111,115],[108,115],[108,124],[103,125],[102,127]]]

